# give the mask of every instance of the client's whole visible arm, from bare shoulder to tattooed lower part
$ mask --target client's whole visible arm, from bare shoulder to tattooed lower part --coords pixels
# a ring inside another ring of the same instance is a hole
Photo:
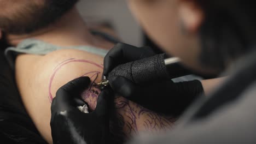
[[[16,81],[27,112],[40,134],[49,143],[50,105],[57,89],[80,76],[100,82],[103,58],[78,50],[59,50],[45,56],[21,55],[16,59]],[[100,91],[91,86],[82,98],[93,110]],[[115,98],[110,121],[116,140],[129,138],[140,131],[158,132],[171,128],[173,119],[160,116],[124,98]]]

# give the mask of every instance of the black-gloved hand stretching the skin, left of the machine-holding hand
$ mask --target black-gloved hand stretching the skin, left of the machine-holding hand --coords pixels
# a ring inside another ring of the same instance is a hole
[[[77,109],[85,104],[79,99],[79,94],[89,85],[89,77],[80,77],[57,91],[51,104],[50,125],[54,143],[108,143],[110,90],[101,92],[95,111],[83,113]]]

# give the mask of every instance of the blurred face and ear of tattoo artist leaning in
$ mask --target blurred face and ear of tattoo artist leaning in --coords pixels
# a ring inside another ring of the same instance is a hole
[[[199,62],[197,29],[202,14],[187,0],[127,0],[142,27],[162,49],[183,63],[204,71]]]

